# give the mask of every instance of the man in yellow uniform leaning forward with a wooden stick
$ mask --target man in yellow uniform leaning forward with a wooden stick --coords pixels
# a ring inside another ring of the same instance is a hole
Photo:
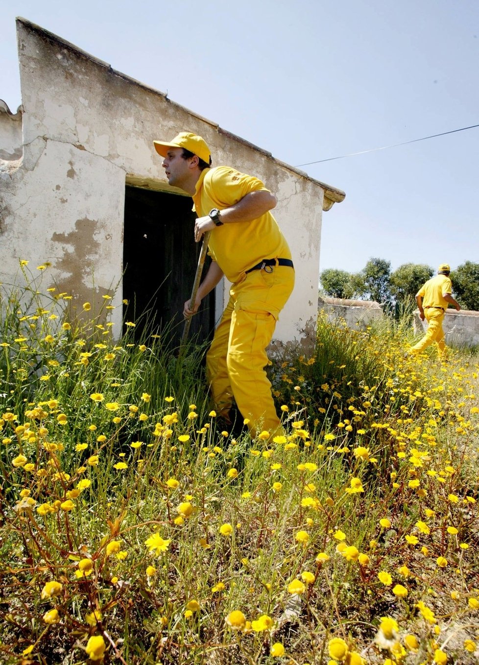
[[[223,275],[233,283],[229,303],[207,353],[207,376],[219,416],[228,420],[235,399],[252,436],[267,430],[282,434],[264,367],[279,313],[294,287],[291,253],[270,210],[276,197],[264,184],[227,166],[211,168],[210,150],[201,136],[181,132],[170,142],[155,141],[170,185],[191,194],[199,217],[195,241],[206,231],[213,259],[199,285],[195,303]]]

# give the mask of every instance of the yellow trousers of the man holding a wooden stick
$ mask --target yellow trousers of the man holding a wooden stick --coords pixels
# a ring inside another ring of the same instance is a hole
[[[207,352],[207,376],[218,415],[227,417],[235,398],[252,436],[261,430],[282,431],[264,368],[266,347],[293,287],[294,270],[288,266],[273,267],[271,273],[255,270],[233,284]]]

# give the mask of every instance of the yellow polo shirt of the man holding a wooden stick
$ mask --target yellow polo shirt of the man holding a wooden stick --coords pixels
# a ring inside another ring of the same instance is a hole
[[[223,210],[238,203],[250,192],[266,190],[264,184],[228,166],[201,172],[193,195],[193,209],[199,217],[212,208]],[[218,226],[209,237],[209,253],[229,281],[244,277],[244,271],[262,259],[290,259],[291,252],[276,219],[268,211],[252,221]]]

